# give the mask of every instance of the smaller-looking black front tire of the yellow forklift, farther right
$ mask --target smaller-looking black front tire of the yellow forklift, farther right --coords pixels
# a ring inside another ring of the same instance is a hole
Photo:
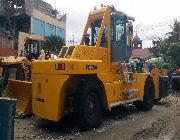
[[[148,77],[146,79],[144,86],[143,101],[134,102],[134,106],[137,109],[144,111],[151,110],[154,105],[154,95],[155,95],[154,82],[151,77]]]

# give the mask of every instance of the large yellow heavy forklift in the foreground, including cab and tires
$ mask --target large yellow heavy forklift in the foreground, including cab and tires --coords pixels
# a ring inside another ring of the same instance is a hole
[[[158,68],[131,70],[133,21],[113,6],[91,11],[80,45],[62,47],[57,60],[32,62],[33,113],[59,121],[73,111],[79,128],[90,129],[100,124],[103,109],[133,103],[150,110],[167,96],[168,77]]]

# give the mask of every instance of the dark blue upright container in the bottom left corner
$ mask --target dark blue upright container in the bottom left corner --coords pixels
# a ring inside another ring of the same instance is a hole
[[[14,139],[16,100],[0,98],[0,140]]]

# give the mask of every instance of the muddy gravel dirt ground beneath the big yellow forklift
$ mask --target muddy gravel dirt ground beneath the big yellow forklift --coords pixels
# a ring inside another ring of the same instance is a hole
[[[180,92],[170,91],[151,111],[133,105],[106,111],[101,126],[85,132],[77,129],[71,114],[59,123],[35,116],[16,118],[14,135],[15,140],[179,140]]]

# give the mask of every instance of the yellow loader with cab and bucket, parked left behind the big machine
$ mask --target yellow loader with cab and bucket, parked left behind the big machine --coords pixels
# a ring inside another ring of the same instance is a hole
[[[19,115],[32,114],[32,82],[31,62],[38,59],[43,48],[43,40],[26,37],[24,54],[7,57],[0,62],[3,69],[1,91],[6,88],[6,96],[17,99],[17,113]]]

